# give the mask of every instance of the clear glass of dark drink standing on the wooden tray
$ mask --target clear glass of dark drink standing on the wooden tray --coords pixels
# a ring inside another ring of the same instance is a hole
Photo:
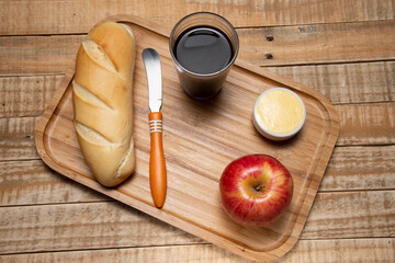
[[[218,42],[219,38],[223,42]],[[221,91],[236,60],[239,42],[227,20],[215,13],[198,12],[187,15],[174,25],[169,48],[182,89],[190,96],[204,100]],[[217,61],[222,64],[216,65]],[[211,66],[216,68],[210,71]]]

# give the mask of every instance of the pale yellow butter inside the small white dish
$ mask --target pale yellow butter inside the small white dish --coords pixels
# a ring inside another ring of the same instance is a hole
[[[305,116],[301,100],[284,89],[272,89],[263,93],[257,103],[256,111],[263,128],[279,135],[297,129]]]

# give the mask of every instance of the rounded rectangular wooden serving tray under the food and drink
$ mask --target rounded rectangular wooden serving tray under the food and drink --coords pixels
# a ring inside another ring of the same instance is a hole
[[[74,65],[37,125],[35,140],[42,159],[67,178],[241,256],[269,261],[285,254],[302,232],[339,134],[338,116],[330,102],[315,90],[240,60],[218,95],[210,101],[192,100],[179,84],[166,31],[129,15],[104,21],[129,25],[137,39],[133,91],[136,171],[114,188],[103,187],[91,175],[72,125]],[[168,172],[162,209],[155,207],[148,181],[148,88],[142,60],[146,47],[159,53],[162,67],[161,112]],[[263,138],[252,125],[255,101],[273,87],[295,91],[307,111],[304,128],[283,142]],[[235,224],[221,204],[218,180],[223,170],[234,159],[251,153],[275,157],[294,180],[289,210],[266,228]]]

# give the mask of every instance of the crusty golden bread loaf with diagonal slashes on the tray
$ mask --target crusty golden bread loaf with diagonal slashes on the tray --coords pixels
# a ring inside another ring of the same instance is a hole
[[[132,30],[115,22],[93,27],[77,54],[74,123],[84,160],[105,186],[120,184],[135,169],[135,54]]]

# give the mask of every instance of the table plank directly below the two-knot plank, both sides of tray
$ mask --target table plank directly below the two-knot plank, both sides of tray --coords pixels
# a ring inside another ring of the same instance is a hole
[[[334,104],[395,101],[395,61],[268,67]],[[63,75],[0,77],[0,117],[38,116]]]

